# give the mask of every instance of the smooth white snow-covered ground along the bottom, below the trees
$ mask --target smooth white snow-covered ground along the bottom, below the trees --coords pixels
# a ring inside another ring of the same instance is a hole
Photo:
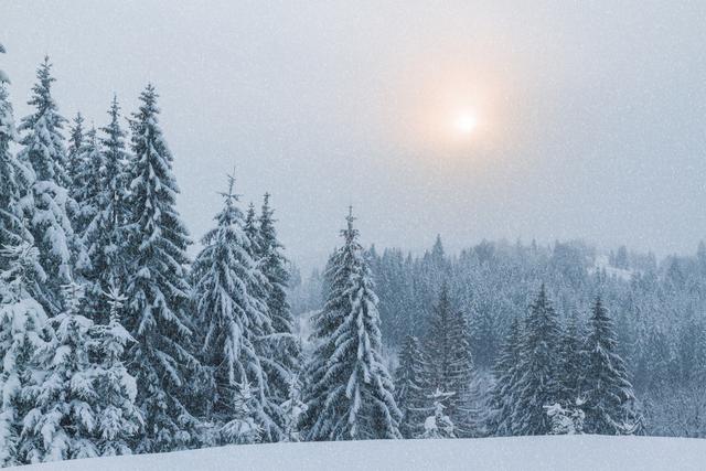
[[[14,468],[22,471],[704,470],[706,440],[522,437],[232,446]]]

